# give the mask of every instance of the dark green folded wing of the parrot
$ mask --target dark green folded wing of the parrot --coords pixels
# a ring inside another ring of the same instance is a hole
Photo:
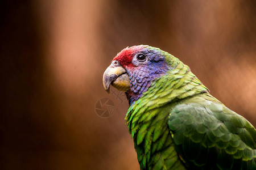
[[[189,168],[256,169],[255,128],[221,103],[198,97],[176,105],[168,126]]]

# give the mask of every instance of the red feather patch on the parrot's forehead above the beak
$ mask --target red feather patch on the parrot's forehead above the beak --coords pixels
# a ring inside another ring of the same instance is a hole
[[[137,54],[142,49],[143,45],[131,46],[130,48],[127,46],[113,60],[117,60],[122,66],[131,66],[133,65],[131,61],[133,60],[134,54]]]

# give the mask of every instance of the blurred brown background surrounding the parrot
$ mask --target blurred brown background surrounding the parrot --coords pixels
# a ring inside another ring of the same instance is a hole
[[[127,101],[102,74],[126,46],[189,65],[256,125],[255,1],[36,0],[1,3],[0,169],[139,169]],[[101,118],[96,102],[115,111]]]

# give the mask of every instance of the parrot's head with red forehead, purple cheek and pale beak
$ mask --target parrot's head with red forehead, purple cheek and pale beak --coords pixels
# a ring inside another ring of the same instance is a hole
[[[130,101],[138,100],[151,83],[172,69],[171,54],[148,45],[125,48],[114,57],[103,75],[103,85],[125,91]],[[173,57],[175,58],[175,57]]]

